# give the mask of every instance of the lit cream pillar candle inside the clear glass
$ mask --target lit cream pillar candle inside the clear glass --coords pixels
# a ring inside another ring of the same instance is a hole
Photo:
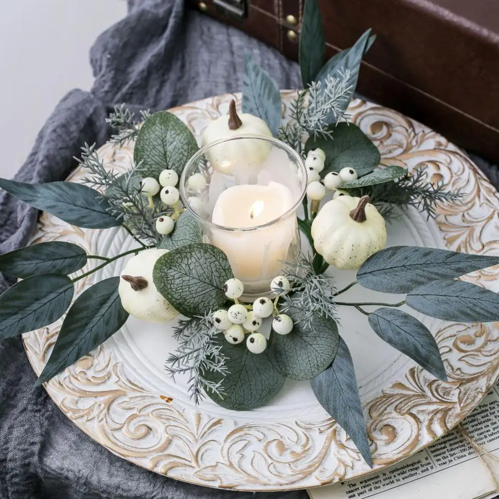
[[[261,287],[282,270],[282,260],[296,235],[296,215],[258,230],[293,206],[291,191],[270,181],[267,186],[237,185],[225,190],[213,208],[212,222],[234,231],[213,230],[211,242],[225,252],[245,292]],[[245,231],[246,229],[246,231]]]

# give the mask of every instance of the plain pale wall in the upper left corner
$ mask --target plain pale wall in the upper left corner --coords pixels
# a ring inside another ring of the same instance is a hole
[[[62,96],[89,90],[89,49],[124,0],[0,0],[0,177],[11,178]]]

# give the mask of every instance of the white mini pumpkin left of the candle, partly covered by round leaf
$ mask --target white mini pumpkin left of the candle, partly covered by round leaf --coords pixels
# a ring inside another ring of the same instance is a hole
[[[168,250],[143,250],[128,260],[121,272],[118,292],[123,308],[145,322],[168,322],[179,314],[153,282],[156,260]]]

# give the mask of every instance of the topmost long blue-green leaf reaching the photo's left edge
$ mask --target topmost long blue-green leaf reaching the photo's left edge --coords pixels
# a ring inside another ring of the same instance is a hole
[[[25,184],[0,179],[0,187],[33,208],[84,229],[108,229],[121,225],[107,213],[109,203],[95,189],[72,182]]]

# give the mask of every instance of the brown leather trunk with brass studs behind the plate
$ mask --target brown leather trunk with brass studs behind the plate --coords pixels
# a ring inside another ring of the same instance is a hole
[[[303,0],[190,0],[291,59]],[[328,56],[369,27],[358,91],[499,163],[499,0],[319,0]]]

